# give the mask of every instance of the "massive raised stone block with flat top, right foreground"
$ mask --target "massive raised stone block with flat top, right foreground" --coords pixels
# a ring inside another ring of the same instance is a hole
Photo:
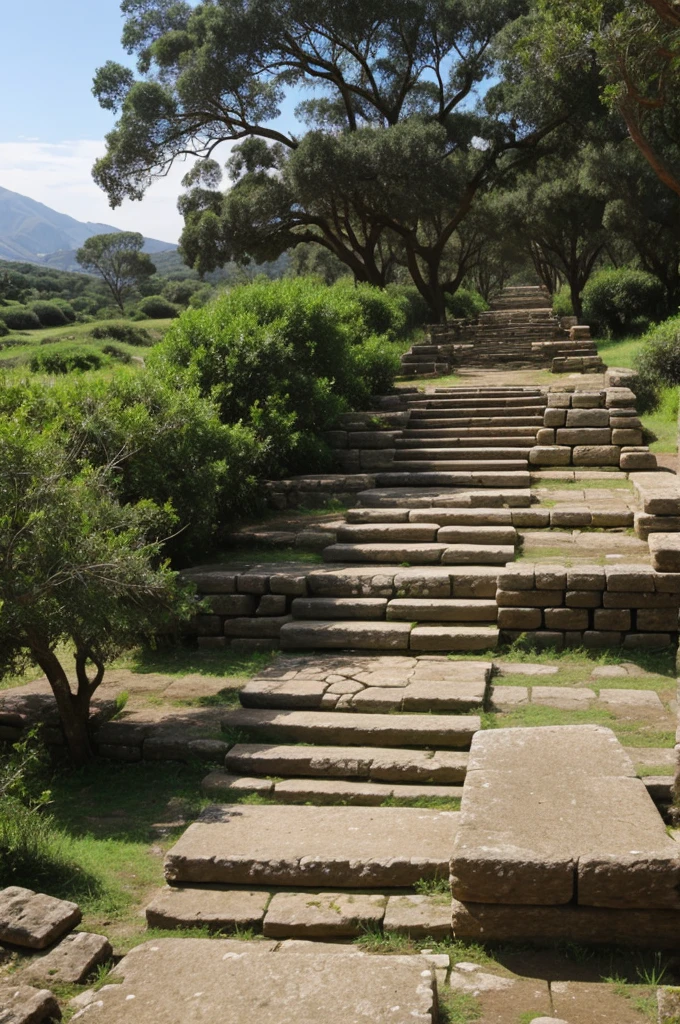
[[[451,885],[463,939],[663,948],[680,938],[680,846],[598,726],[475,735]]]

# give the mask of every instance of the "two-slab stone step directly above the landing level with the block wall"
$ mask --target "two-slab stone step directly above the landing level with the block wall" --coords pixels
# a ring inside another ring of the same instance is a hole
[[[345,527],[349,529],[349,527]],[[364,529],[365,527],[359,527]],[[442,529],[457,529],[445,526]],[[482,529],[484,527],[475,527]],[[494,529],[495,527],[488,527]],[[506,565],[515,557],[514,545],[484,541],[474,544],[416,544],[403,542],[331,544],[324,548],[327,562],[371,562],[376,565]]]

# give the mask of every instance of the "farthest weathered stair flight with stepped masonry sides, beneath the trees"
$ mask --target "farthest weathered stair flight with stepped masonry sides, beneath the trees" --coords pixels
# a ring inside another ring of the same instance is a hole
[[[510,288],[475,321],[433,325],[430,340],[401,357],[408,379],[436,377],[459,367],[551,367],[555,373],[603,370],[587,328],[563,331],[541,288]]]

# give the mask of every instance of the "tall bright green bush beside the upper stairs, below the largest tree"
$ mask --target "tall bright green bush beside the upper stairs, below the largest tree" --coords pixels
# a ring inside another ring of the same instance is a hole
[[[368,322],[390,326],[367,343]],[[388,293],[314,279],[258,282],[184,312],[151,366],[197,385],[222,422],[251,426],[266,474],[308,472],[325,462],[318,433],[377,385],[391,384],[397,361],[389,340],[405,323],[403,300]]]

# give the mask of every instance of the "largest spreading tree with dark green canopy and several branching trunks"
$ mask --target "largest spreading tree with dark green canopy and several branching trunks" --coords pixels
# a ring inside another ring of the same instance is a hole
[[[401,263],[441,318],[465,273],[450,259],[452,244],[461,249],[453,240],[500,157],[522,161],[573,113],[564,81],[518,118],[508,116],[510,87],[503,101],[470,102],[494,71],[499,34],[525,8],[123,0],[123,42],[140,77],[114,62],[96,74],[95,95],[120,118],[95,180],[118,205],[196,156],[182,250],[202,272],[310,242],[378,287]],[[272,125],[290,88],[310,95],[297,111],[301,137]],[[211,158],[227,140],[240,144],[224,195]]]

